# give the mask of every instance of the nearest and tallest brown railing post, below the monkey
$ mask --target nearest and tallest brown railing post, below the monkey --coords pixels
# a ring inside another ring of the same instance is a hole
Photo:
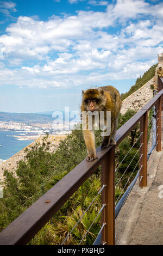
[[[115,146],[112,146],[102,162],[102,245],[115,245]]]

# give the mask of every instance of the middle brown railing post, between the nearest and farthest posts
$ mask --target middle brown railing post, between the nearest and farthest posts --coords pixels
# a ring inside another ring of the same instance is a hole
[[[148,112],[146,111],[145,114],[143,114],[142,119],[140,120],[140,132],[142,133],[142,136],[140,137],[140,145],[142,144],[142,147],[140,148],[140,162],[139,162],[139,180],[141,179],[141,176],[143,178],[140,181],[139,186],[146,187],[147,186],[147,136],[148,136]]]

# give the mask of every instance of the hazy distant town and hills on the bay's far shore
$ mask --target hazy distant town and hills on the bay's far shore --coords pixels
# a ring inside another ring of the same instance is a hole
[[[14,136],[17,140],[35,140],[47,132],[52,135],[67,135],[79,123],[77,120],[69,122],[52,118],[52,115],[36,113],[0,112],[0,120],[0,131],[22,132],[18,135],[7,135]]]

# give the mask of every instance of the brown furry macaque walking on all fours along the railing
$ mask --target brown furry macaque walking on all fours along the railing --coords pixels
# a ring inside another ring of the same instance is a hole
[[[106,131],[110,126],[109,135],[104,132],[102,148],[107,148],[109,145],[115,145],[115,134],[118,125],[118,116],[120,114],[120,109],[122,105],[122,100],[118,90],[112,86],[104,86],[94,89],[88,89],[83,91],[81,111],[92,113],[92,123],[95,126],[95,117],[93,113],[98,113],[101,115],[102,111],[104,113],[104,126]],[[107,120],[107,114],[110,112],[110,120]],[[82,113],[82,117],[83,117]],[[101,119],[99,119],[99,123]],[[111,124],[110,124],[111,121]],[[99,124],[101,127],[101,124]],[[96,148],[95,148],[95,134],[94,129],[90,130],[88,125],[88,115],[86,115],[86,129],[83,130],[84,140],[87,148],[86,161],[92,162],[97,159]]]

